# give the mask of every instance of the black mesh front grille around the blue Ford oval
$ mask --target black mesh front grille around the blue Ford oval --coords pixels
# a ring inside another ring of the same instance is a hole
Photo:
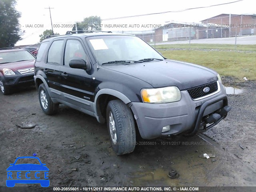
[[[204,88],[206,88],[206,87],[210,88],[210,90],[207,93],[204,92]],[[217,90],[218,90],[217,82],[212,82],[212,83],[208,83],[208,84],[204,84],[204,85],[200,85],[200,86],[197,86],[197,87],[187,89],[187,91],[190,94],[190,97],[192,99],[196,99],[196,98],[206,96],[208,94],[216,92]]]

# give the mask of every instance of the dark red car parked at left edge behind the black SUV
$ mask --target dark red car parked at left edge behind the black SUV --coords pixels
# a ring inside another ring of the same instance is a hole
[[[35,57],[20,48],[0,48],[0,89],[4,95],[14,87],[34,84]]]

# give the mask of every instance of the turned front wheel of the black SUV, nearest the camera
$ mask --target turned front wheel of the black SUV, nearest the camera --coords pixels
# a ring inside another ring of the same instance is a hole
[[[106,121],[114,152],[118,155],[133,152],[136,130],[131,109],[121,100],[112,100],[106,109]]]

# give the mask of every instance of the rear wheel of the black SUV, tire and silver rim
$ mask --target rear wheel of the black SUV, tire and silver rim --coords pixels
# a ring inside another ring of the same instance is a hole
[[[58,112],[59,104],[52,102],[44,84],[40,84],[38,88],[38,97],[40,106],[45,114],[52,115]]]

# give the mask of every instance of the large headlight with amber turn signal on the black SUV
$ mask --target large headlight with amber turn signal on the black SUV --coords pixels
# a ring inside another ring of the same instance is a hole
[[[142,99],[147,103],[168,103],[179,101],[180,90],[178,87],[163,87],[156,89],[142,89],[141,90]]]

